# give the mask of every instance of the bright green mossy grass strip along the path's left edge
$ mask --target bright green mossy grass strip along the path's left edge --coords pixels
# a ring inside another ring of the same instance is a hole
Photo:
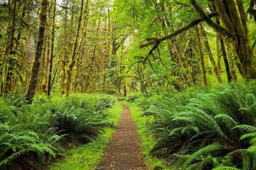
[[[118,103],[115,104],[113,108],[109,110],[110,121],[116,126],[118,123],[118,118],[122,113],[122,106]],[[51,170],[93,170],[101,160],[103,156],[103,151],[108,145],[108,142],[112,138],[114,129],[106,128],[103,130],[97,140],[88,143],[87,145],[81,145],[75,149],[67,151],[65,153],[66,158],[63,160],[58,160],[50,166]]]

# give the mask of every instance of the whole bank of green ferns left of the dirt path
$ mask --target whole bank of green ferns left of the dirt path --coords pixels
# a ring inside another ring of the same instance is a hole
[[[103,94],[37,96],[33,104],[22,97],[0,98],[0,169],[31,168],[31,158],[46,165],[62,155],[63,146],[93,140],[112,125],[106,108],[114,102]]]

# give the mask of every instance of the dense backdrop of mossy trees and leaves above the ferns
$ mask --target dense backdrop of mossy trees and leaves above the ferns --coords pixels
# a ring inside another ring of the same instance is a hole
[[[255,1],[3,1],[1,95],[255,78]],[[39,27],[39,30],[38,30]]]

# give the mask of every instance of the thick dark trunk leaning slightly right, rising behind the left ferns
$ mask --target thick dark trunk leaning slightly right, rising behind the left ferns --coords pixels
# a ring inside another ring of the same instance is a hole
[[[45,25],[47,21],[46,11],[48,8],[48,0],[42,0],[41,7],[42,9],[40,11],[40,24],[39,24],[39,30],[38,30],[38,41],[36,43],[36,54],[35,54],[34,62],[32,65],[32,75],[30,78],[30,84],[28,84],[28,91],[26,94],[26,100],[28,100],[29,103],[32,103],[32,99],[36,92],[36,83],[38,81],[38,71],[40,68],[42,48],[44,45],[44,31],[45,31]]]

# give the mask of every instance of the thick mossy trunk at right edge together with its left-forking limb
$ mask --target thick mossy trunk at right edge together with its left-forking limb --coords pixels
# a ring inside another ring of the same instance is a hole
[[[236,4],[234,0],[214,0],[216,11],[224,27],[212,21],[196,0],[190,0],[190,2],[208,25],[223,37],[230,39],[236,56],[237,68],[243,78],[256,78],[256,66],[253,61],[253,50],[249,46],[247,15],[243,1],[237,0]]]

